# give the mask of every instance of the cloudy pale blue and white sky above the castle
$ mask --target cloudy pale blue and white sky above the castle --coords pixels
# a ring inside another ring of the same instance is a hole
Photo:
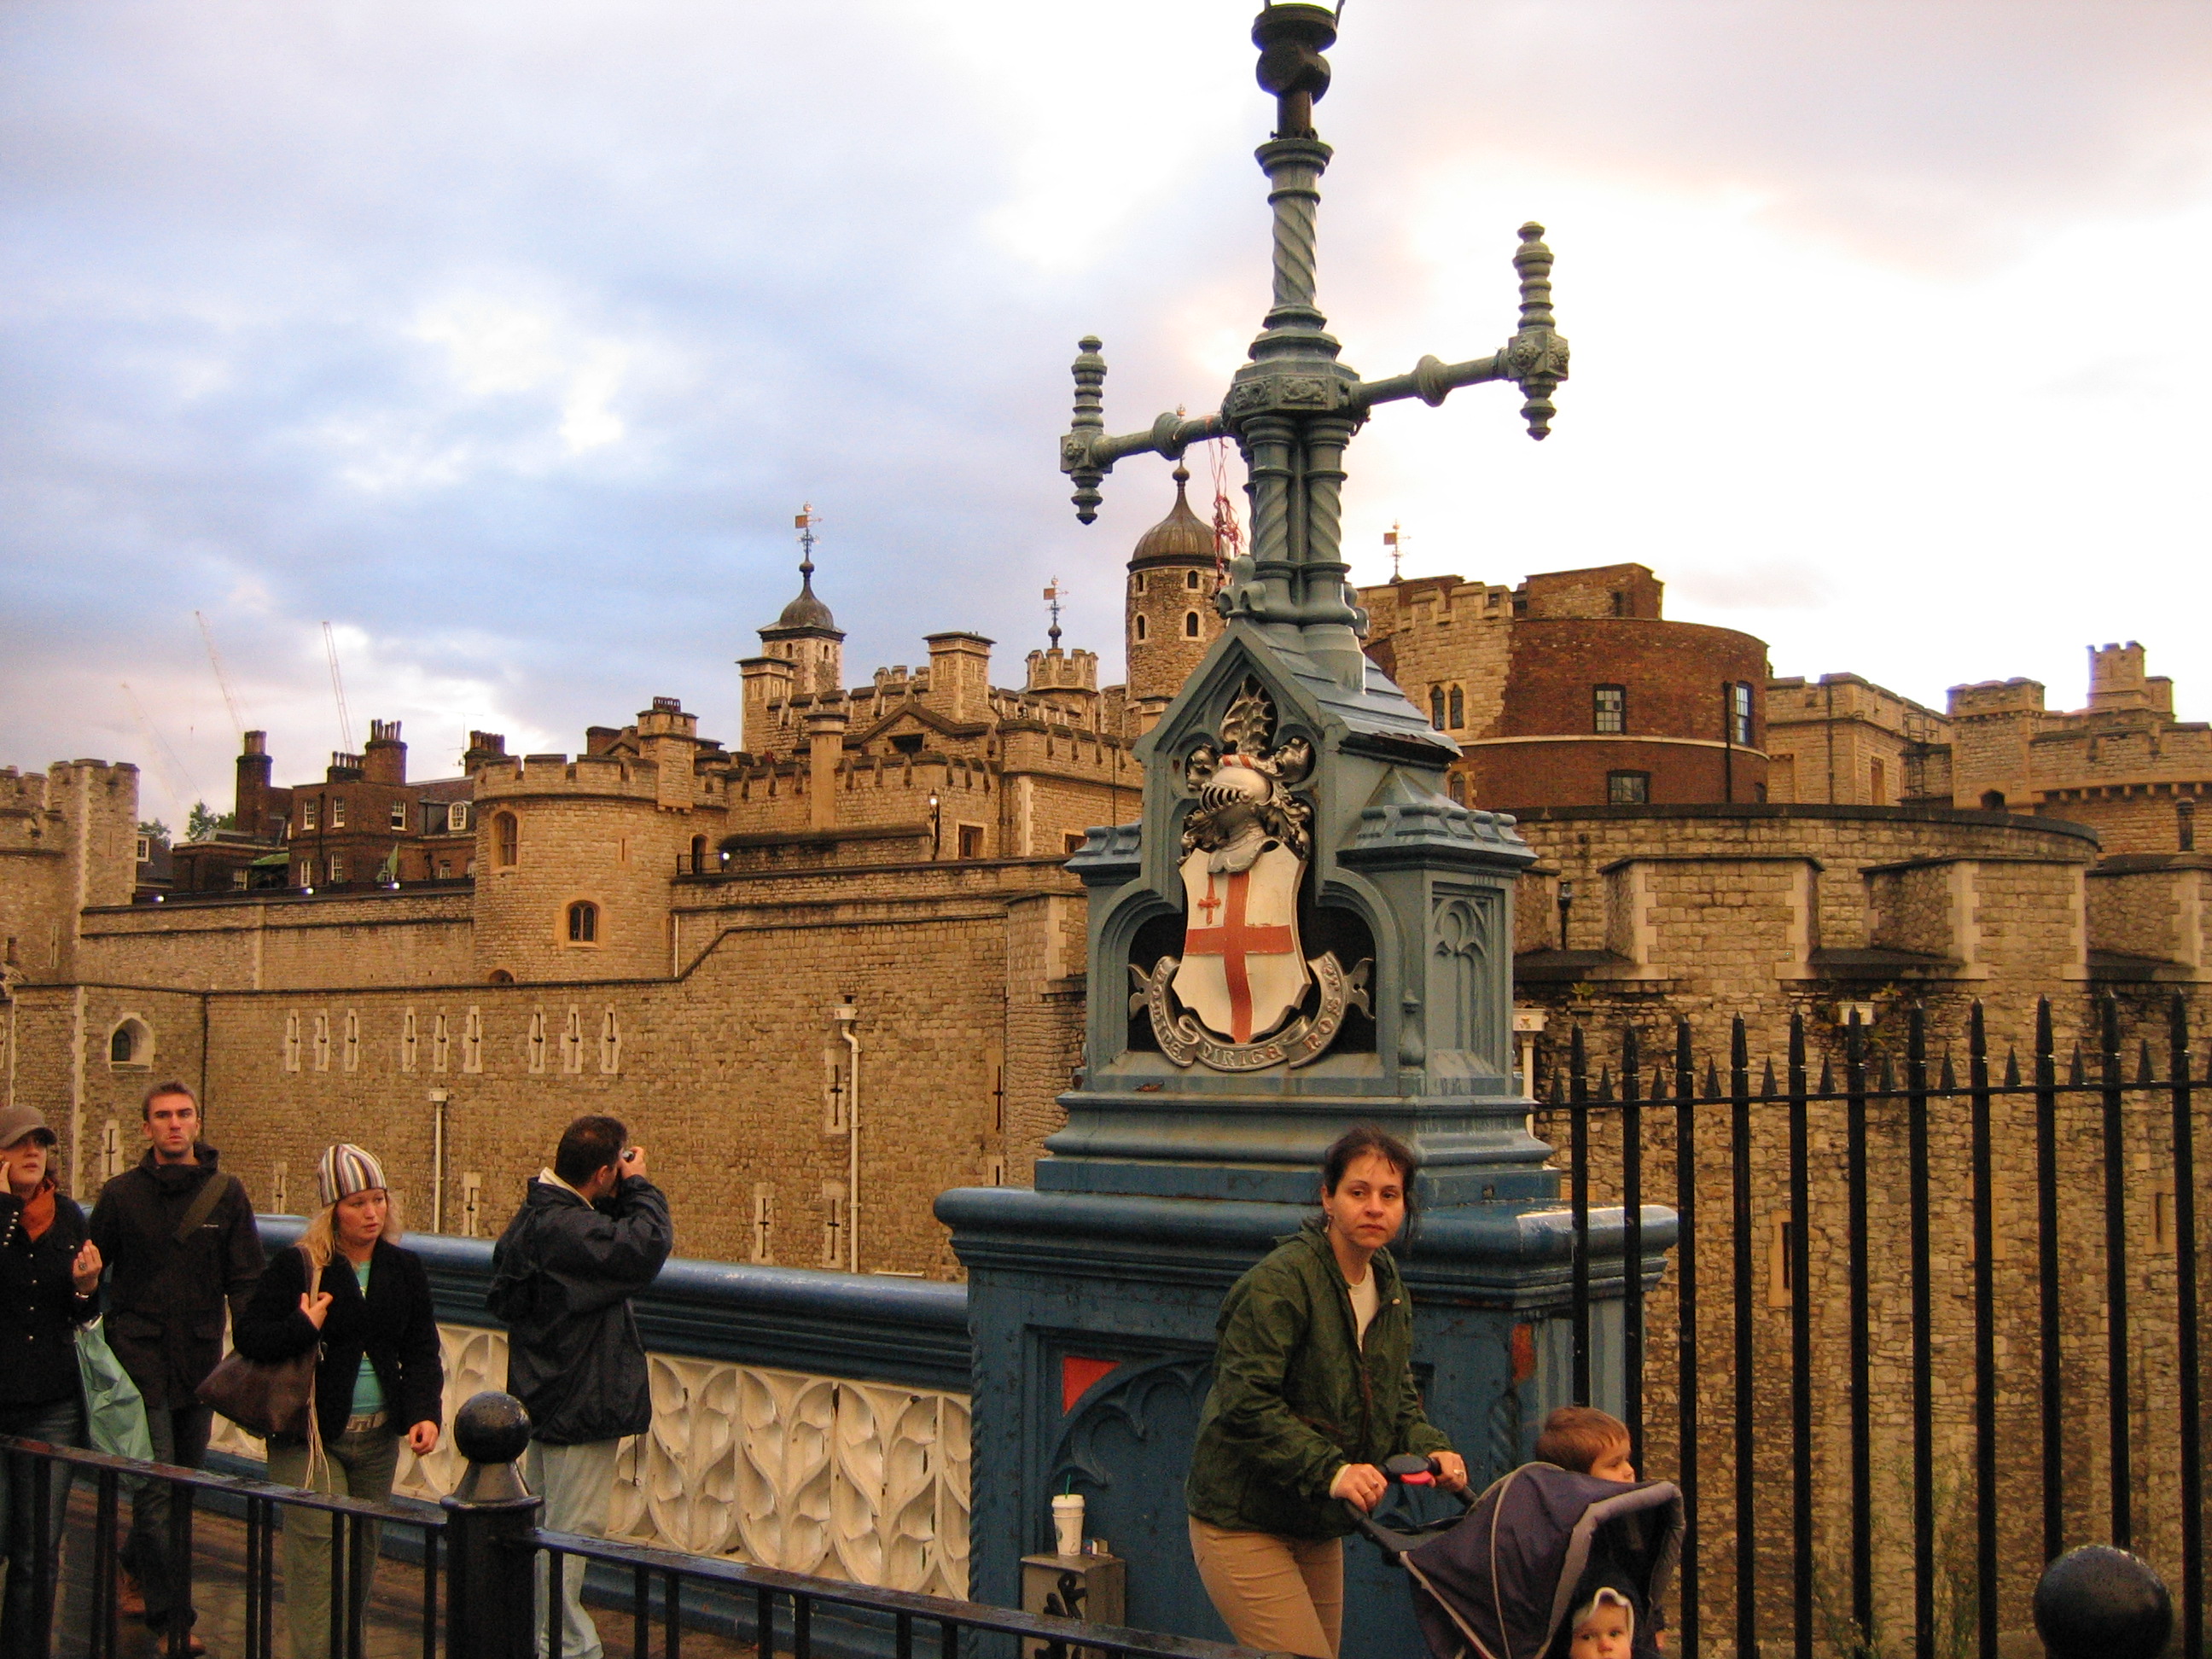
[[[1055,467],[1212,407],[1267,301],[1250,0],[13,0],[0,9],[0,765],[228,805],[400,719],[577,750],[796,591],[847,679],[998,641],[1121,668],[1170,502]],[[2212,717],[2212,7],[1352,0],[1316,108],[1321,301],[1400,374],[1513,327],[1573,378],[1380,409],[1354,577],[1637,560],[1778,675],[2086,697],[2139,639]],[[1212,467],[1192,458],[1199,487]],[[1241,482],[1234,458],[1230,482]],[[1203,502],[1201,502],[1203,507]],[[197,617],[195,617],[197,613]],[[204,633],[204,628],[206,633]]]

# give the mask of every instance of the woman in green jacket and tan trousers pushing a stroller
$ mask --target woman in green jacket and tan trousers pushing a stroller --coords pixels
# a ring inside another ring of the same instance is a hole
[[[1383,1500],[1383,1462],[1420,1453],[1438,1484],[1467,1489],[1467,1464],[1413,1389],[1413,1310],[1389,1254],[1416,1168],[1380,1128],[1343,1135],[1323,1157],[1321,1221],[1221,1305],[1183,1500],[1206,1595],[1245,1648],[1336,1659],[1345,1504]]]

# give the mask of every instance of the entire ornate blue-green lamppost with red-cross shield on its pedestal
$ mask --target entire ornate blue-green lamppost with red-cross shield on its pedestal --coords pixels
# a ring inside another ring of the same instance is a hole
[[[1513,1077],[1513,885],[1533,858],[1513,821],[1442,792],[1458,745],[1360,650],[1340,557],[1343,456],[1380,403],[1436,405],[1515,380],[1533,436],[1566,378],[1551,252],[1522,230],[1522,325],[1493,356],[1422,358],[1360,380],[1314,303],[1314,210],[1329,148],[1312,106],[1336,40],[1325,7],[1252,29],[1276,133],[1274,305],[1210,416],[1106,436],[1097,341],[1075,361],[1062,467],[1077,515],[1135,453],[1230,436],[1252,491],[1252,551],[1219,595],[1228,628],[1137,743],[1141,823],[1093,830],[1068,860],[1088,889],[1084,1053],[1031,1188],[938,1197],[969,1270],[973,1595],[1013,1601],[1020,1557],[1051,1548],[1048,1500],[1128,1562],[1128,1621],[1223,1637],[1190,1562],[1181,1484],[1210,1385],[1223,1292],[1314,1212],[1323,1148],[1376,1121],[1422,1157],[1422,1221],[1400,1250],[1418,1303],[1429,1416],[1471,1471],[1524,1460],[1566,1391],[1573,1228]],[[1048,1068],[1057,1048],[1018,1053]],[[1650,1281],[1674,1217],[1595,1212],[1588,1279],[1617,1314]],[[1608,1243],[1610,1241],[1610,1243]],[[1597,1318],[1599,1405],[1617,1398]],[[1418,1650],[1405,1588],[1347,1555],[1345,1659]]]

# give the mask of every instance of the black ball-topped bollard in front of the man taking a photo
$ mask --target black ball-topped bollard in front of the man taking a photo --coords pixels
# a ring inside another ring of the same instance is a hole
[[[531,1659],[535,1575],[520,1540],[542,1500],[515,1473],[531,1442],[531,1413],[511,1394],[484,1391],[453,1413],[453,1447],[469,1473],[445,1500],[445,1641],[449,1659]]]

